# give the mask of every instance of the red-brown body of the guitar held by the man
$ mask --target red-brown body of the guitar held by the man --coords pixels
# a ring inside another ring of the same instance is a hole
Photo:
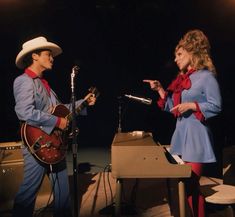
[[[70,111],[64,105],[57,105],[52,114],[66,117]],[[65,158],[68,143],[67,130],[54,129],[50,135],[38,127],[26,123],[21,126],[21,138],[29,151],[45,164],[57,164]]]

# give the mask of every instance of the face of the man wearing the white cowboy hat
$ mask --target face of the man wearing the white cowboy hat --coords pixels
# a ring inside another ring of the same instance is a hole
[[[44,70],[52,69],[54,58],[50,50],[41,51],[39,54],[33,54],[33,60]]]

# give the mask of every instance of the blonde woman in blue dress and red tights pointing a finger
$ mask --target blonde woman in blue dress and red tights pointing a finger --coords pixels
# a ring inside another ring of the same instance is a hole
[[[199,179],[206,163],[216,162],[207,119],[221,111],[221,94],[210,56],[210,43],[200,30],[188,31],[175,48],[179,68],[176,79],[164,90],[156,80],[144,80],[158,92],[158,105],[177,119],[171,139],[171,154],[182,157],[192,167],[186,182],[191,216],[204,217],[204,198]]]

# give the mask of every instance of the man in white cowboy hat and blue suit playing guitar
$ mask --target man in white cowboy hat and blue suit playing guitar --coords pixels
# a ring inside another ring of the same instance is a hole
[[[61,53],[62,49],[57,44],[45,37],[37,37],[23,44],[15,61],[16,66],[24,70],[13,85],[17,117],[22,123],[39,128],[48,135],[55,128],[65,129],[68,124],[66,118],[51,113],[51,109],[60,102],[43,78],[44,71],[52,69],[54,57]],[[76,105],[83,101],[76,101]],[[95,101],[95,97],[91,96],[88,105],[94,105]],[[86,111],[82,113],[86,114]],[[33,216],[36,195],[46,174],[49,174],[54,193],[54,216],[72,216],[65,159],[55,167],[45,166],[26,146],[22,151],[24,179],[14,200],[13,217]]]

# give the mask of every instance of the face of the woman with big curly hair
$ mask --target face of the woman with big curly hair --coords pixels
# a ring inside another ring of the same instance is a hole
[[[188,53],[185,49],[180,47],[176,52],[175,52],[175,62],[180,69],[180,71],[188,71],[191,69],[191,58],[192,55]]]

